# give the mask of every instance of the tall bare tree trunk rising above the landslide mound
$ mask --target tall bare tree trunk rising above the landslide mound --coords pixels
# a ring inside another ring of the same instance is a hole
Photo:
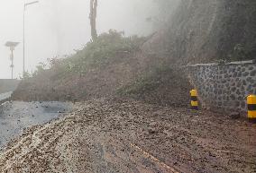
[[[96,33],[96,13],[97,13],[97,0],[91,0],[90,3],[90,22],[91,22],[91,35],[93,41],[97,39]]]

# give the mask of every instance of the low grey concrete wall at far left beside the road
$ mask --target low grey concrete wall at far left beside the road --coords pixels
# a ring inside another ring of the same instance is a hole
[[[0,79],[0,93],[14,91],[20,81],[11,79]]]

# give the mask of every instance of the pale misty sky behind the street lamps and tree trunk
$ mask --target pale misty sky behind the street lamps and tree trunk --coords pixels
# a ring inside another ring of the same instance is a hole
[[[99,0],[97,30],[124,30],[125,35],[147,35],[155,12],[153,0]],[[32,2],[25,1],[25,2]],[[2,0],[0,6],[0,79],[11,78],[6,41],[21,44],[14,50],[14,77],[23,71],[23,0]],[[89,0],[40,0],[26,10],[26,70],[53,56],[74,53],[90,39]],[[2,45],[2,46],[1,46]]]

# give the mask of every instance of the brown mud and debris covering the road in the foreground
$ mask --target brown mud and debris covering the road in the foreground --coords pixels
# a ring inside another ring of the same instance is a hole
[[[256,125],[210,112],[96,99],[28,129],[2,172],[255,172]]]

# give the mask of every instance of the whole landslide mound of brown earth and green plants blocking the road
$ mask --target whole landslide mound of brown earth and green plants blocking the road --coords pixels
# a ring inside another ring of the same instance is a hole
[[[189,91],[189,82],[166,65],[166,59],[142,52],[147,39],[123,37],[110,30],[73,56],[39,65],[32,76],[23,79],[13,99],[76,101],[129,97],[187,106],[188,95],[184,93]]]

